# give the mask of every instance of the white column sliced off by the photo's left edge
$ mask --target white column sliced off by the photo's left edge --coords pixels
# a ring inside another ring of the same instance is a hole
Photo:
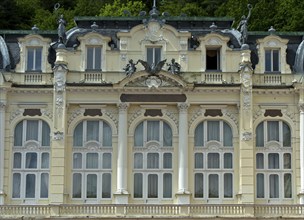
[[[4,204],[4,133],[5,133],[5,102],[0,102],[0,205]]]

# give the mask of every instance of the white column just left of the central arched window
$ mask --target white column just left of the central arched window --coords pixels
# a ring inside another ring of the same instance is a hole
[[[117,152],[117,190],[115,193],[116,203],[128,203],[127,191],[127,148],[128,148],[128,124],[127,110],[128,103],[119,103],[119,118],[118,118],[118,152]]]

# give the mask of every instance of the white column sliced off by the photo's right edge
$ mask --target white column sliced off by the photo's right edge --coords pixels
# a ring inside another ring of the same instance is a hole
[[[304,204],[304,103],[300,107],[300,204]]]

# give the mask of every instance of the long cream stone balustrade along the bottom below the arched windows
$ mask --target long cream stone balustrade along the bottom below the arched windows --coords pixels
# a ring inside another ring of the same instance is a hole
[[[242,205],[242,204],[204,204],[204,205],[0,205],[1,218],[17,217],[60,217],[81,216],[109,218],[304,218],[304,205]]]

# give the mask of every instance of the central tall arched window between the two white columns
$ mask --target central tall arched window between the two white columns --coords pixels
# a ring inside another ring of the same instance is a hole
[[[171,199],[171,127],[162,120],[141,122],[135,129],[133,152],[133,197],[146,201]]]

